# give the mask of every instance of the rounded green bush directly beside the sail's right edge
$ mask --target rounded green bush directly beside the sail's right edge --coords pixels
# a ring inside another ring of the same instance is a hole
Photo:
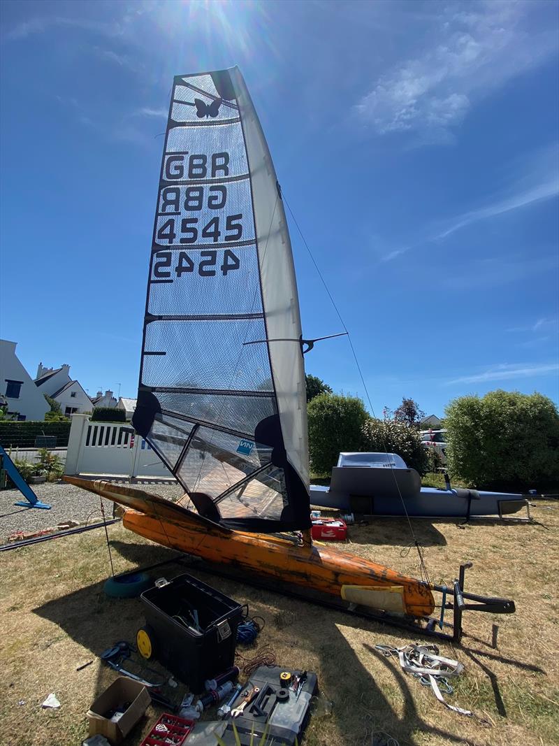
[[[323,393],[309,401],[309,456],[315,474],[329,474],[340,451],[361,450],[368,414],[361,399]]]

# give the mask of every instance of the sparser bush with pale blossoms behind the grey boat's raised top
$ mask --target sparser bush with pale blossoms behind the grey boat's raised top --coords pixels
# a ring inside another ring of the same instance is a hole
[[[429,454],[421,443],[415,427],[395,420],[367,421],[362,430],[361,451],[397,454],[408,468],[414,468],[423,477],[429,471]]]

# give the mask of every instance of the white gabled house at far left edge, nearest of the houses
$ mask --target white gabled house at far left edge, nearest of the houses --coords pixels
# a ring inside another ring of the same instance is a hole
[[[0,339],[0,394],[7,403],[7,414],[17,415],[14,419],[42,421],[51,407],[18,360],[16,345]]]

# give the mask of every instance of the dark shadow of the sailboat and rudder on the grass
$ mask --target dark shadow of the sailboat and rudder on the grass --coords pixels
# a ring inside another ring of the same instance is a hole
[[[383,637],[394,637],[394,645],[402,645],[402,635],[405,635],[402,630],[355,618],[343,612],[326,611],[306,601],[288,598],[269,590],[253,589],[235,580],[216,577],[195,564],[190,566],[190,558],[186,555],[181,556],[173,550],[157,545],[129,544],[121,541],[110,543],[113,551],[139,568],[151,568],[149,571],[154,580],[162,576],[171,579],[177,574],[190,572],[238,599],[240,603],[249,603],[252,613],[265,614],[268,633],[263,633],[262,642],[268,642],[265,636],[272,636],[271,645],[272,648],[277,646],[279,665],[296,668],[297,665],[303,665],[301,656],[304,655],[304,651],[315,653],[320,659],[320,689],[328,698],[335,700],[332,718],[335,719],[341,733],[346,734],[347,743],[361,743],[364,738],[366,715],[371,716],[371,722],[375,723],[376,729],[385,730],[400,743],[417,743],[417,734],[420,732],[434,733],[449,743],[464,742],[463,736],[460,735],[459,718],[456,721],[456,733],[449,733],[423,720],[417,711],[413,695],[413,687],[417,682],[405,676],[395,662],[385,659],[374,648],[374,638],[380,634]],[[183,560],[184,564],[171,564],[177,559]],[[159,565],[160,562],[169,563]],[[139,599],[107,598],[104,595],[103,583],[95,583],[48,601],[34,609],[34,612],[57,624],[95,657],[100,656],[118,640],[134,642],[136,631],[144,623],[142,603]],[[289,618],[291,621],[284,627],[283,622],[277,622],[278,617]],[[359,643],[359,649],[366,651],[365,656],[362,652],[356,651],[355,645],[350,645],[351,630],[367,630],[370,633],[371,645]],[[490,662],[481,662],[477,656],[496,659],[529,670],[541,670],[489,651],[461,649],[489,677],[496,709],[503,716],[506,716],[506,709],[496,674],[491,671]],[[256,653],[255,648],[248,651],[241,648],[241,651],[247,657]],[[367,660],[370,656],[373,656],[372,659]],[[153,664],[153,667],[157,668],[157,665]],[[390,683],[383,683],[381,686],[376,682],[376,675],[382,667],[390,671],[391,680]],[[115,672],[106,666],[99,668],[95,696],[106,689],[115,675]],[[433,707],[435,706],[438,705],[433,703]],[[150,720],[154,720],[156,714],[160,714],[154,710],[149,713]],[[148,718],[144,718],[126,739],[126,743],[137,742],[139,731],[145,730],[147,724]],[[327,729],[328,724],[324,724],[324,727]]]

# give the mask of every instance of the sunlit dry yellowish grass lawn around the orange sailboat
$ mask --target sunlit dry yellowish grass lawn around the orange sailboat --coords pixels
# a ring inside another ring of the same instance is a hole
[[[445,709],[430,689],[402,674],[394,659],[374,650],[377,642],[405,645],[414,639],[411,633],[207,574],[199,577],[265,618],[258,647],[271,645],[280,665],[318,673],[320,689],[334,706],[331,714],[312,717],[303,740],[308,746],[369,745],[371,726],[390,733],[400,746],[559,744],[559,504],[538,502],[532,513],[534,524],[414,521],[433,581],[452,582],[460,562],[472,560],[467,589],[517,603],[515,615],[466,612],[462,645],[440,646],[441,654],[465,666],[455,695],[447,699],[474,709],[488,724]],[[108,530],[118,572],[174,554],[121,524]],[[405,520],[370,520],[350,527],[350,540],[341,548],[417,575],[417,556],[405,550],[410,541]],[[141,605],[104,595],[110,567],[103,530],[9,551],[1,560],[0,743],[79,744],[89,704],[116,675],[98,656],[117,640],[135,639]],[[168,565],[154,577],[180,571]],[[497,648],[491,645],[492,624],[499,625]],[[240,650],[252,656],[257,648]],[[76,671],[89,659],[92,665]],[[41,709],[50,692],[60,709]],[[126,743],[139,744],[161,712],[148,709]]]

